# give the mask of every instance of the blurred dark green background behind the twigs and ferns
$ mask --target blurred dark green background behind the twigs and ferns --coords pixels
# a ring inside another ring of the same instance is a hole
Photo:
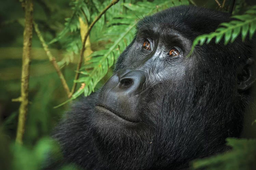
[[[34,0],[33,19],[39,25],[42,36],[48,43],[65,29],[65,18],[74,13],[76,1],[72,0]],[[83,1],[87,6],[87,25],[99,14],[99,12],[111,1]],[[90,33],[90,49],[99,51],[108,49],[115,39],[106,36],[111,18],[116,13],[124,13],[127,16],[142,18],[144,13],[131,10],[123,3],[137,4],[146,1],[119,1],[113,6],[102,21],[97,23]],[[147,1],[152,3],[152,0]],[[223,4],[224,0],[218,0]],[[224,7],[219,7],[215,0],[194,0],[188,1],[190,5],[195,3],[198,6],[212,8],[219,11],[228,11],[232,0],[225,1]],[[98,4],[98,5],[97,5]],[[247,7],[255,5],[255,0],[237,0],[234,7],[236,14],[242,14]],[[168,5],[166,6],[168,7]],[[41,155],[51,150],[53,141],[45,139],[49,136],[53,127],[60,120],[61,116],[68,110],[69,104],[58,108],[54,106],[65,102],[68,98],[63,90],[60,79],[42,48],[37,34],[33,31],[31,49],[31,67],[29,80],[29,109],[26,120],[26,131],[24,134],[24,146],[13,145],[16,137],[19,102],[12,102],[12,99],[20,96],[20,76],[22,66],[22,48],[24,31],[24,10],[18,0],[1,0],[0,2],[0,167],[3,169],[38,169]],[[118,24],[117,24],[118,25]],[[103,30],[103,31],[102,31]],[[109,31],[110,32],[110,31]],[[110,33],[108,32],[108,36]],[[116,32],[116,34],[120,34]],[[113,36],[113,35],[111,35]],[[110,36],[110,37],[111,37]],[[72,44],[73,43],[73,44]],[[119,50],[130,43],[130,38],[124,40]],[[65,76],[67,84],[71,88],[75,76],[76,66],[79,60],[79,51],[82,41],[80,29],[68,32],[56,43],[49,45],[49,49],[56,57],[61,71]],[[117,55],[117,54],[115,54]],[[116,58],[117,56],[115,56]],[[105,77],[96,86],[100,87],[112,75],[113,67],[108,70]],[[81,75],[82,77],[82,75]],[[252,117],[246,118],[246,124],[251,124]],[[254,136],[255,126],[248,126],[244,136]],[[43,138],[43,139],[42,139]],[[42,139],[42,140],[40,140]],[[38,143],[38,141],[40,141]],[[37,144],[38,143],[38,144]],[[47,144],[47,145],[46,145]],[[18,154],[17,154],[18,153]],[[38,155],[38,156],[35,156]],[[33,162],[34,163],[31,163]],[[29,164],[31,163],[31,165]],[[38,162],[38,163],[37,163]],[[17,164],[17,165],[16,165]],[[21,166],[23,165],[23,166]]]

